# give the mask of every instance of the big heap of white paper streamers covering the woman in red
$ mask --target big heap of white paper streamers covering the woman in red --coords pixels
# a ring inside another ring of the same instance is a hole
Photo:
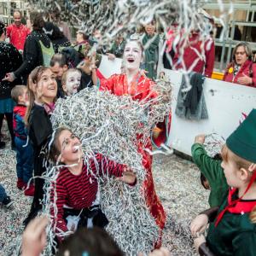
[[[171,94],[170,83],[159,82],[156,88]],[[149,253],[159,236],[143,196],[146,174],[142,155],[137,153],[137,133],[143,134],[141,142],[145,145],[155,123],[170,112],[171,101],[163,102],[161,95],[147,102],[136,102],[131,96],[114,96],[94,87],[59,99],[51,117],[54,128],[66,126],[79,137],[85,164],[101,153],[136,172],[134,187],[113,177],[105,177],[104,182],[100,179],[102,211],[109,220],[108,233],[130,255]],[[49,214],[49,207],[55,207],[49,202],[49,189],[56,177],[55,167],[50,167],[44,175],[44,214]],[[49,249],[53,243],[50,228],[48,235]]]

